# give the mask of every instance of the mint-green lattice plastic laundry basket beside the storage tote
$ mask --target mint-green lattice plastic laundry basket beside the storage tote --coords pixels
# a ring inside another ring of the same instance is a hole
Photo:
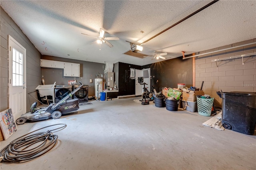
[[[214,98],[202,99],[196,97],[198,114],[202,116],[210,116],[212,113],[212,105]]]

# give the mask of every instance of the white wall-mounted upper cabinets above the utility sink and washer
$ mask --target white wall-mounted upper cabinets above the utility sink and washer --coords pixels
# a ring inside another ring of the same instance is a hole
[[[47,68],[64,69],[64,76],[80,77],[80,64],[78,63],[40,59],[40,66]]]

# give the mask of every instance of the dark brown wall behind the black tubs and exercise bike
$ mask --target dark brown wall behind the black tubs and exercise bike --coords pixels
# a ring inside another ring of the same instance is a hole
[[[192,58],[182,59],[177,57],[157,63],[144,65],[142,68],[150,68],[151,86],[156,87],[156,91],[162,87],[177,88],[178,83],[186,84],[187,87],[193,84]]]

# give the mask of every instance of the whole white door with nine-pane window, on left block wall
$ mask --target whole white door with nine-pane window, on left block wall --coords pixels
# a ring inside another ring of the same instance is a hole
[[[26,49],[8,35],[9,108],[14,119],[26,113]]]

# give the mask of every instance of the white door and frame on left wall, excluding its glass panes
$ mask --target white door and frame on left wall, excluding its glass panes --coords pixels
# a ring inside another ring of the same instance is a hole
[[[13,86],[13,49],[16,49],[22,53],[22,71],[23,79],[22,84],[18,86]],[[9,58],[9,69],[8,69],[8,105],[12,109],[12,114],[14,119],[18,119],[20,115],[26,113],[26,49],[20,45],[14,38],[8,35],[8,58]]]

